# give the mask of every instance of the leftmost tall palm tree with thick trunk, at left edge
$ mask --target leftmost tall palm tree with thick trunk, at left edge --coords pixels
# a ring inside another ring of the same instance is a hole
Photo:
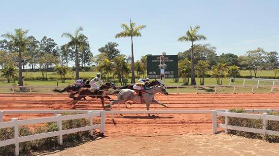
[[[8,38],[11,40],[13,47],[18,51],[18,85],[23,86],[22,80],[22,56],[21,53],[26,51],[26,46],[29,43],[29,40],[26,36],[29,30],[23,30],[21,28],[15,29],[15,33],[5,33],[2,34],[2,37]]]

